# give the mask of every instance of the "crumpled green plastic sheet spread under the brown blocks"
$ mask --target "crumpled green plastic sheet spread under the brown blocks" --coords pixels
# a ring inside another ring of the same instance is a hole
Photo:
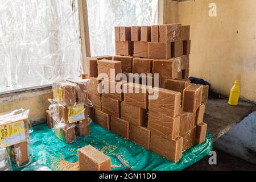
[[[67,170],[61,165],[63,162],[71,166],[77,164],[77,150],[88,144],[111,158],[113,171],[125,170],[116,158],[116,153],[132,167],[132,171],[180,171],[203,159],[212,151],[212,137],[207,134],[205,143],[193,146],[183,154],[183,158],[178,163],[172,163],[130,140],[102,129],[96,123],[90,125],[89,136],[77,138],[71,144],[66,144],[55,137],[47,125],[38,125],[32,129],[34,132],[30,134],[31,164],[40,163],[52,170]]]

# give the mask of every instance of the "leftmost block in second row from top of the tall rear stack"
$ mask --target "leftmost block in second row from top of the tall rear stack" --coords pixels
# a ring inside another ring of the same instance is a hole
[[[133,42],[115,41],[115,55],[123,55],[123,56],[133,55]]]

